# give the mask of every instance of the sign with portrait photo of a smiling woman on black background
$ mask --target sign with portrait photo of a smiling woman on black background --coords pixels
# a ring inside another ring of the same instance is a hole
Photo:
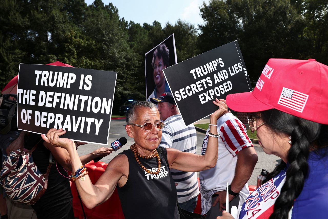
[[[146,53],[146,99],[159,97],[164,92],[171,92],[162,69],[176,64],[174,34]]]

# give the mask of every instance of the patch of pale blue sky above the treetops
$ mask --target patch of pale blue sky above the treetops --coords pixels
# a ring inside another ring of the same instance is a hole
[[[112,2],[118,9],[120,18],[124,17],[128,22],[131,20],[142,25],[143,23],[153,24],[156,20],[161,23],[162,27],[166,22],[174,25],[179,18],[194,24],[195,27],[203,24],[199,7],[204,1],[207,4],[209,2],[209,0],[102,0],[105,5]],[[85,2],[90,5],[93,0],[85,0]]]

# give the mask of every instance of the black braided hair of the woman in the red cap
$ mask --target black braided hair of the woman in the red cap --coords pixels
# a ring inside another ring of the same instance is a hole
[[[289,167],[286,171],[286,182],[281,188],[280,195],[275,202],[274,212],[270,216],[270,219],[287,219],[289,210],[294,205],[294,200],[301,193],[304,180],[308,175],[307,159],[310,150],[327,147],[328,126],[301,119],[276,109],[262,111],[259,116],[273,133],[292,137],[292,146],[287,155]],[[285,167],[286,163],[281,161],[267,178],[275,177]]]

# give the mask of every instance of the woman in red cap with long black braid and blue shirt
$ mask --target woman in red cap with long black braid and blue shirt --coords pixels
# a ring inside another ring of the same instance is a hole
[[[327,87],[327,65],[270,59],[253,92],[227,96],[228,107],[248,112],[263,151],[282,159],[237,218],[327,218]]]

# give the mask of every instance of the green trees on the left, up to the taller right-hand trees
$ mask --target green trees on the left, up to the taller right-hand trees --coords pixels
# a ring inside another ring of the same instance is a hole
[[[175,25],[128,24],[117,8],[95,0],[0,0],[0,87],[18,73],[19,63],[61,61],[79,68],[117,71],[114,112],[128,98],[145,99],[145,53],[172,33],[179,61],[195,53],[196,29]]]

